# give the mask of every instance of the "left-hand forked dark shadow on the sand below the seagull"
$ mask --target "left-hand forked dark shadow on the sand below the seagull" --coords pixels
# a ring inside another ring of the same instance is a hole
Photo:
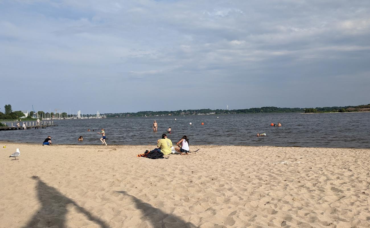
[[[57,189],[48,186],[38,176],[32,176],[37,180],[37,197],[41,208],[32,216],[24,227],[66,227],[67,204],[76,207],[77,211],[84,214],[88,220],[95,222],[102,228],[108,228],[108,224],[94,215],[91,215],[85,208],[79,206],[75,201],[64,196]]]

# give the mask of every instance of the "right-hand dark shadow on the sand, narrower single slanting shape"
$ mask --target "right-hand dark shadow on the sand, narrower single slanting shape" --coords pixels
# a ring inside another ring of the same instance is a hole
[[[127,194],[125,191],[119,191],[119,193],[129,196],[135,202],[136,208],[142,211],[142,220],[150,222],[154,228],[196,228],[196,225],[191,222],[185,222],[175,215],[166,214],[162,210],[143,202],[141,199]]]

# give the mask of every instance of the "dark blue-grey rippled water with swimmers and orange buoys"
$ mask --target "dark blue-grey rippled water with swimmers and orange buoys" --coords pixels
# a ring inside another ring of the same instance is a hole
[[[154,120],[158,132],[152,130]],[[171,126],[168,138],[175,143],[187,135],[190,145],[370,148],[369,120],[369,112],[74,119],[54,120],[58,126],[46,129],[0,131],[0,136],[4,141],[42,143],[50,135],[55,144],[100,145],[97,132],[105,128],[108,145],[154,145]],[[278,121],[282,127],[269,126]],[[88,128],[95,131],[87,132]],[[257,137],[257,132],[267,136]],[[80,135],[83,142],[77,141]]]

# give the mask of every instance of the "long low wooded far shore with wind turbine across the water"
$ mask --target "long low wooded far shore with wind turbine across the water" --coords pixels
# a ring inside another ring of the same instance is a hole
[[[369,105],[357,106],[333,106],[323,108],[277,108],[277,107],[261,107],[250,109],[188,109],[176,111],[140,111],[140,112],[125,112],[125,113],[104,113],[107,117],[122,117],[122,116],[178,116],[178,115],[197,115],[197,114],[243,114],[243,113],[284,113],[284,112],[300,112],[300,113],[314,113],[314,112],[358,112],[361,109],[369,109]],[[365,110],[366,111],[366,110]]]

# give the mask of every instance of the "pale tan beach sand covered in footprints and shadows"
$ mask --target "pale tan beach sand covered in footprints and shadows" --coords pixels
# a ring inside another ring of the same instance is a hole
[[[0,227],[370,227],[370,149],[153,148],[3,142]]]

